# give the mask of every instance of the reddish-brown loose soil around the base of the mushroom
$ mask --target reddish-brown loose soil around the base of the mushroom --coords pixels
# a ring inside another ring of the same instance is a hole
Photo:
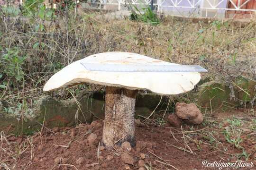
[[[99,145],[102,139],[101,121],[91,125],[81,124],[75,128],[44,128],[34,136],[8,136],[7,140],[2,137],[4,150],[0,150],[0,155],[3,151],[0,158],[6,165],[16,164],[17,170],[138,170],[138,164],[144,162],[147,167],[154,167],[156,170],[172,170],[171,166],[178,170],[204,170],[201,163],[203,160],[236,161],[231,154],[240,151],[227,143],[221,134],[218,140],[225,145],[227,152],[214,149],[199,135],[194,135],[192,140],[187,141],[191,149],[185,147],[182,138],[183,135],[188,135],[187,132],[190,131],[191,135],[203,128],[210,130],[210,127],[198,126],[193,131],[190,128],[186,125],[183,129],[140,126],[136,128],[137,144],[134,148],[130,150],[116,147],[112,151],[106,151]],[[254,144],[250,140],[244,140],[243,146],[252,155],[247,161],[256,163],[253,160]],[[186,148],[188,152],[174,146]]]

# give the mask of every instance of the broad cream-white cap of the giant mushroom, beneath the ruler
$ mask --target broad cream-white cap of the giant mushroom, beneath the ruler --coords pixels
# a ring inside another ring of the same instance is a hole
[[[201,76],[198,72],[110,72],[91,71],[81,63],[176,65],[159,59],[130,52],[104,52],[77,60],[55,73],[44,86],[44,91],[82,83],[124,87],[130,90],[147,89],[170,95],[192,90]]]

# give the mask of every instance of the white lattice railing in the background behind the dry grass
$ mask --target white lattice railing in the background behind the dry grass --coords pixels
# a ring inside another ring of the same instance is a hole
[[[206,13],[209,11],[222,12],[244,11],[256,12],[256,0],[153,0],[154,7],[159,13],[174,11],[201,10]],[[151,5],[151,0],[91,0],[91,3],[102,5],[117,5],[120,10],[122,6],[128,5]],[[247,6],[248,5],[248,6]]]

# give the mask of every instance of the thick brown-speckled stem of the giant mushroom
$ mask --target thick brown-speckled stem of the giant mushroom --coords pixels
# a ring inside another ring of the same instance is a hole
[[[135,146],[135,102],[137,90],[106,87],[102,143],[107,149],[128,141]]]

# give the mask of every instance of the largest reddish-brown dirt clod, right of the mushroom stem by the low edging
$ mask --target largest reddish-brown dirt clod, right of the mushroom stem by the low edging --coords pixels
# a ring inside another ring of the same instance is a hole
[[[185,119],[187,123],[198,125],[203,120],[201,111],[194,103],[177,102],[175,109],[176,115],[180,119]]]

